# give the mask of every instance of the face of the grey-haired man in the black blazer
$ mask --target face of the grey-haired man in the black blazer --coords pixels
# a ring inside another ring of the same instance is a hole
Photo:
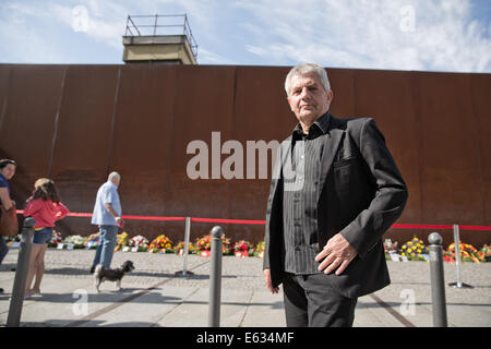
[[[318,74],[291,76],[288,104],[300,122],[313,123],[327,111],[332,100],[333,92],[324,89]]]

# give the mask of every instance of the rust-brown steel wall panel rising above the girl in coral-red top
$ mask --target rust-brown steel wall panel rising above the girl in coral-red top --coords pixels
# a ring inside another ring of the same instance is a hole
[[[0,130],[1,157],[19,163],[13,198],[22,207],[34,181],[49,174],[63,65],[12,65]]]

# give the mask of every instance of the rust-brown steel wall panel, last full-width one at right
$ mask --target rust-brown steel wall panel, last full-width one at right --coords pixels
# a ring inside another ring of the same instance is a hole
[[[470,75],[415,73],[415,93],[422,221],[484,225]]]

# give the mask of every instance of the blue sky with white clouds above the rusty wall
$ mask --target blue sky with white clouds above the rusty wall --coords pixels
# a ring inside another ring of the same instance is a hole
[[[200,64],[491,72],[491,0],[2,0],[0,63],[121,64],[155,13],[188,14]]]

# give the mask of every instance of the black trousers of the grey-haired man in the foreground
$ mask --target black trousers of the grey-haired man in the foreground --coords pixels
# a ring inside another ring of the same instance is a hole
[[[357,298],[346,298],[324,274],[295,275],[283,279],[288,327],[351,327]]]

